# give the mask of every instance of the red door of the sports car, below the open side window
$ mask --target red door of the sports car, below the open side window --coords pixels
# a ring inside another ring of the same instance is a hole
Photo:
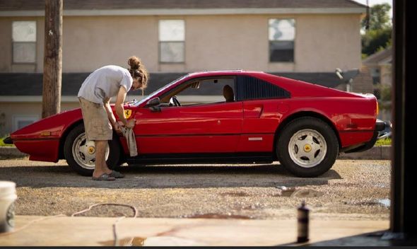
[[[216,85],[220,88],[221,82]],[[160,112],[139,108],[135,118],[139,154],[233,153],[242,134],[243,109],[242,101],[225,100],[161,105]]]

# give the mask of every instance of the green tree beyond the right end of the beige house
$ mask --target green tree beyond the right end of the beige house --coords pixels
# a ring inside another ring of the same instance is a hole
[[[374,54],[391,45],[392,23],[389,18],[389,4],[375,4],[370,7],[369,29],[362,35],[362,54]],[[362,28],[366,28],[368,19],[362,21]]]

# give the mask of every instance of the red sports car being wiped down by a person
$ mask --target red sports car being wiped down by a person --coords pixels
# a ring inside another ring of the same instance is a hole
[[[218,98],[206,93],[218,93]],[[114,133],[106,153],[122,163],[272,163],[315,177],[340,152],[370,149],[384,122],[374,95],[347,93],[260,71],[204,71],[182,76],[139,101],[124,105],[136,119],[138,156]],[[117,115],[116,115],[117,117]],[[84,134],[81,109],[61,112],[11,134],[30,160],[65,158],[91,175],[95,148]]]

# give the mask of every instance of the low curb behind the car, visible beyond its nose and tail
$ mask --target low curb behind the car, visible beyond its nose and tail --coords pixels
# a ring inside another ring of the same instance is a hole
[[[16,156],[24,157],[28,154],[20,152],[16,147],[0,146],[0,156]],[[341,153],[338,159],[353,159],[353,160],[389,160],[391,158],[391,146],[374,146],[368,151]]]

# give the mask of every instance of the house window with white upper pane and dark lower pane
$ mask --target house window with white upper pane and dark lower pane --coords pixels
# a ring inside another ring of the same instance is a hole
[[[294,19],[269,19],[269,62],[294,62]]]

